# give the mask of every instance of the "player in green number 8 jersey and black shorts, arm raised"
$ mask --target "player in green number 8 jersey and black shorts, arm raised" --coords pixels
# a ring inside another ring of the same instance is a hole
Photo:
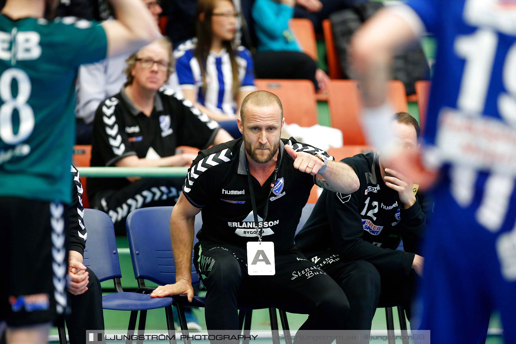
[[[44,19],[56,5],[7,0],[0,15],[0,329],[5,321],[8,343],[46,342],[66,310],[63,203],[71,201],[77,68],[158,35],[140,0],[111,0],[117,20],[102,25]]]

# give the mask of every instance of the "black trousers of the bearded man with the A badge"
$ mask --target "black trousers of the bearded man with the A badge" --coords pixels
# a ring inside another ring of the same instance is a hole
[[[245,249],[208,241],[196,244],[194,264],[207,288],[208,331],[237,330],[238,306],[253,305],[309,314],[299,331],[344,328],[349,303],[331,277],[295,247],[275,259],[275,275],[249,276]]]

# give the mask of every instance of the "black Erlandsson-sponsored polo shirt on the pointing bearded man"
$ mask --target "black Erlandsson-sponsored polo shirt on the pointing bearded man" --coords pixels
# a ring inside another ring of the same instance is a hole
[[[201,241],[232,244],[244,249],[247,241],[258,241],[243,142],[240,138],[201,151],[188,170],[183,194],[193,206],[202,208],[202,228],[197,234]],[[259,221],[264,221],[262,240],[274,242],[278,253],[292,249],[301,210],[314,185],[311,174],[294,168],[294,159],[285,152],[285,144],[293,145],[295,151],[328,156],[294,138],[281,139],[278,156],[281,162],[273,191],[270,192],[274,172],[263,186],[251,176]],[[268,215],[263,219],[267,198]]]

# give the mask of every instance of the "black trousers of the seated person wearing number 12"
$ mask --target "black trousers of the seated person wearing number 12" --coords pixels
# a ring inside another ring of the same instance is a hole
[[[378,307],[405,308],[411,318],[416,273],[407,277],[381,275],[375,266],[365,260],[343,261],[329,251],[309,254],[309,259],[341,286],[349,300],[353,317],[346,323],[346,330],[371,330],[371,323]]]

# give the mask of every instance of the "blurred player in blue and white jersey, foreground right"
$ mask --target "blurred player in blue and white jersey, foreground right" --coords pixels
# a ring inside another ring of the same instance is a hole
[[[354,68],[362,83],[369,143],[394,147],[383,128],[390,57],[423,32],[438,51],[424,132],[423,165],[440,168],[425,243],[422,330],[432,343],[477,343],[491,312],[516,342],[516,2],[408,0],[357,32]],[[390,157],[406,173],[417,163]],[[414,160],[415,161],[415,160]],[[429,174],[414,176],[428,184]],[[416,182],[417,183],[417,182]]]

